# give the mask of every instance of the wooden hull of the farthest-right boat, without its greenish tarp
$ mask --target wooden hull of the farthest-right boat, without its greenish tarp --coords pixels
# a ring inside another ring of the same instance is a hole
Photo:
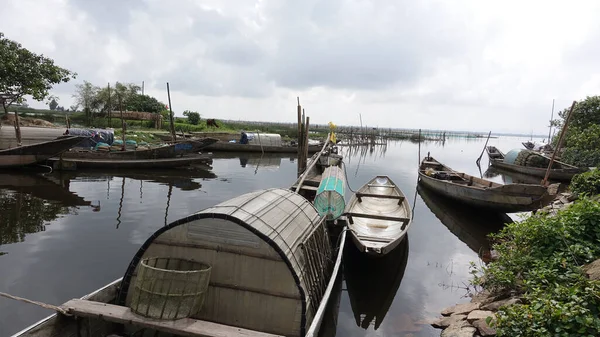
[[[498,150],[495,146],[486,147],[486,151],[492,167],[524,173],[540,178],[544,178],[546,176],[547,168],[522,166],[505,162],[504,153]],[[574,175],[588,171],[588,168],[579,168],[556,160],[554,162],[555,164],[560,165],[561,168],[552,168],[550,170],[549,179],[551,180],[570,181]]]

